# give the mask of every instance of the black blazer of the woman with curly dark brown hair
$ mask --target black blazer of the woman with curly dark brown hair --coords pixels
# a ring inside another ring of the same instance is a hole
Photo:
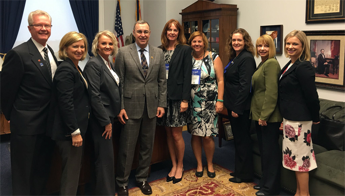
[[[224,73],[224,105],[236,114],[250,109],[251,76],[256,69],[253,55],[246,49],[233,60]]]

